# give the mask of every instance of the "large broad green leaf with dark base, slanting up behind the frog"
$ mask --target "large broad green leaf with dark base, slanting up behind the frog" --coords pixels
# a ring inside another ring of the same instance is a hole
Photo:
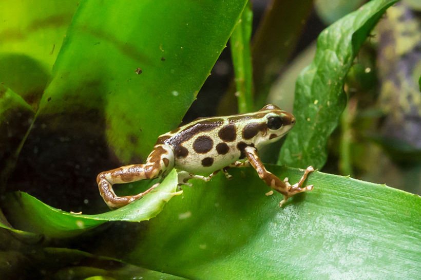
[[[91,115],[82,130],[105,126],[122,162],[146,159],[157,136],[177,127],[195,100],[246,0],[172,4],[81,2],[37,122],[57,130],[67,127],[69,116]]]

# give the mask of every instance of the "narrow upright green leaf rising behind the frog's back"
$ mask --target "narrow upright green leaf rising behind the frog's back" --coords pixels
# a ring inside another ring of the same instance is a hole
[[[229,40],[238,95],[238,113],[253,111],[253,75],[250,53],[252,24],[253,9],[251,2],[248,1]]]

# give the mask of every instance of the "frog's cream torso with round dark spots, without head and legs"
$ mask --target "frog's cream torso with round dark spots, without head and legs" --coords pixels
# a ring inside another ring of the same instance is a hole
[[[244,139],[247,124],[255,121],[256,134],[266,130],[264,113],[200,118],[158,138],[173,148],[175,167],[190,173],[212,173],[244,158],[244,148],[254,146],[253,137]],[[259,127],[260,125],[260,127]],[[264,126],[264,127],[263,127]],[[255,134],[255,135],[256,135]]]

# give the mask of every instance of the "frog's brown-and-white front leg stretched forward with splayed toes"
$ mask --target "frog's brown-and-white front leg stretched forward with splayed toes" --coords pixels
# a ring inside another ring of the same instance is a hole
[[[285,180],[282,181],[264,168],[263,163],[261,162],[259,156],[257,155],[256,148],[248,146],[248,147],[245,147],[244,150],[245,150],[245,155],[247,159],[250,161],[251,165],[257,171],[257,173],[259,174],[259,177],[272,189],[274,189],[275,191],[283,195],[283,200],[279,203],[279,207],[281,207],[282,204],[285,203],[286,200],[288,200],[288,198],[290,198],[291,196],[297,193],[311,191],[313,189],[313,185],[308,185],[308,186],[305,186],[305,188],[301,188],[301,185],[307,178],[307,175],[310,172],[314,171],[313,166],[307,167],[300,181],[296,184],[291,185],[288,182],[288,178],[285,178]]]

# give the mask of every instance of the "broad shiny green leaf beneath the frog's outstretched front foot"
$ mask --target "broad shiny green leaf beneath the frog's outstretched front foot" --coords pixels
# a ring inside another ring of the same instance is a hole
[[[267,168],[290,182],[302,172]],[[123,260],[194,279],[415,279],[421,273],[421,198],[385,185],[314,172],[314,189],[284,208],[251,168],[192,180]],[[113,253],[109,252],[111,255]],[[117,253],[117,252],[116,252]],[[177,257],[174,257],[177,256]]]

